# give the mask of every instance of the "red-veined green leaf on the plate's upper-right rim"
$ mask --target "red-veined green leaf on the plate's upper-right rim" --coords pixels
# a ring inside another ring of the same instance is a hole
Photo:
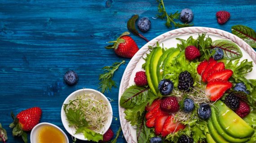
[[[231,41],[227,40],[216,40],[212,42],[213,47],[219,47],[223,50],[223,59],[233,60],[239,59],[243,56],[240,48]]]

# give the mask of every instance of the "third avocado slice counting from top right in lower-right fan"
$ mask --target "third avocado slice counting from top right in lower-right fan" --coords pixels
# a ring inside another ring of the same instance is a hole
[[[230,143],[230,142],[226,141],[221,135],[219,135],[217,133],[216,129],[212,125],[211,118],[208,120],[207,127],[208,127],[208,130],[209,130],[209,132],[212,136],[212,139],[214,139],[216,141],[216,143]]]

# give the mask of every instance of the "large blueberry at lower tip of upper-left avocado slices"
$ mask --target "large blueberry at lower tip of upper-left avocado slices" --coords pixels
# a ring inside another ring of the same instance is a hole
[[[158,84],[158,89],[162,95],[170,95],[173,89],[173,83],[169,79],[163,79]]]

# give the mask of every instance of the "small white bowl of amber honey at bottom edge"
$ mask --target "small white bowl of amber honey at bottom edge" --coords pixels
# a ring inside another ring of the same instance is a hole
[[[37,124],[30,135],[31,143],[69,143],[65,132],[48,122]]]

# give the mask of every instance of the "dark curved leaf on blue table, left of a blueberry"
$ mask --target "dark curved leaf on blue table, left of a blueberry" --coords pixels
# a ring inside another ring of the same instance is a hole
[[[143,35],[141,35],[137,29],[135,28],[135,23],[136,23],[136,20],[139,18],[139,15],[135,14],[132,16],[132,18],[130,18],[127,22],[127,28],[129,31],[132,32],[132,34],[136,35],[136,36],[139,36],[140,38],[146,40],[146,42],[149,42],[149,40],[147,38],[145,38]]]

